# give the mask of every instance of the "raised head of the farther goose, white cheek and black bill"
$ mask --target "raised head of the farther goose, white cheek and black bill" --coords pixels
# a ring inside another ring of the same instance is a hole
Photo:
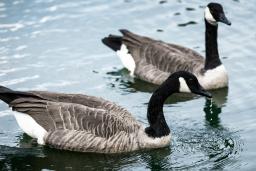
[[[225,16],[223,7],[218,3],[209,3],[204,12],[205,20],[211,25],[218,25],[218,22],[231,25],[231,22]]]

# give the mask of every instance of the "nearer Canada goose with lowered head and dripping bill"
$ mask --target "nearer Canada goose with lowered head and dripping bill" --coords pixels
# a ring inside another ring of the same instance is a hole
[[[38,144],[71,151],[119,153],[160,148],[170,143],[163,105],[171,94],[183,91],[182,84],[192,93],[211,97],[193,74],[176,72],[151,96],[147,128],[126,109],[93,96],[21,92],[1,86],[0,99],[17,111],[14,116],[19,126],[36,138]]]

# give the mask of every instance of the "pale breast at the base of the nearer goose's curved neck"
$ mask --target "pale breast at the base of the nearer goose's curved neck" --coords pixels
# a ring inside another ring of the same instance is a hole
[[[161,148],[170,145],[171,134],[161,137],[152,138],[145,133],[145,129],[141,129],[138,133],[140,148]]]

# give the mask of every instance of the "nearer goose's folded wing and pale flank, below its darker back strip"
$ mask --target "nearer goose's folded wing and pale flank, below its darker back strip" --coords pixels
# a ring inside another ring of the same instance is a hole
[[[129,141],[136,141],[136,132],[141,128],[134,120],[118,113],[81,104],[19,98],[10,106],[14,111],[30,115],[46,129],[45,143],[59,149],[129,151],[136,146]],[[119,141],[121,145],[116,148]]]

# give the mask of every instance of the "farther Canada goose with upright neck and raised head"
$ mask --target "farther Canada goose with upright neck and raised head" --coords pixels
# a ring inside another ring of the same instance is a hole
[[[228,74],[222,65],[217,44],[218,22],[231,25],[218,3],[205,8],[206,59],[192,49],[169,44],[120,30],[123,36],[109,35],[102,42],[116,51],[124,67],[131,75],[160,85],[170,73],[188,71],[193,73],[204,89],[228,86]]]

